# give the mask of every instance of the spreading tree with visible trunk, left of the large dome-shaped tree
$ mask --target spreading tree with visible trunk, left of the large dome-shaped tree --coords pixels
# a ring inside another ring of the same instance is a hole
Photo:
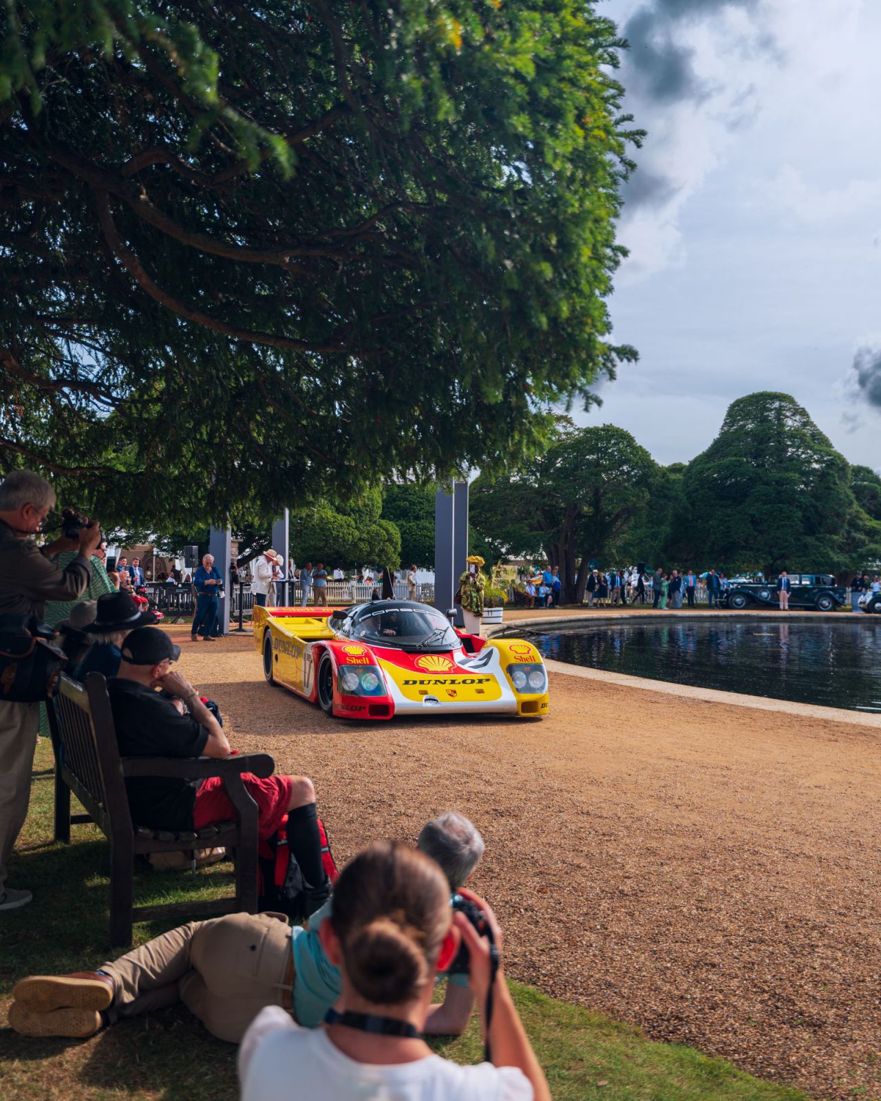
[[[623,554],[659,482],[657,465],[623,428],[563,425],[529,469],[474,482],[471,521],[508,557],[559,566],[563,599],[580,602],[590,563]]]

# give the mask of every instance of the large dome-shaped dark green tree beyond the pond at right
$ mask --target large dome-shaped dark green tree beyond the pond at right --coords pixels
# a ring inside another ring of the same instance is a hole
[[[835,571],[879,553],[881,527],[858,505],[847,460],[788,394],[733,402],[683,487],[704,563]]]

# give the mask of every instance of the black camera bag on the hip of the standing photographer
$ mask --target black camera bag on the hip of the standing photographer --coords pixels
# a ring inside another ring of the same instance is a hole
[[[0,615],[0,699],[40,704],[55,695],[67,658],[54,637],[35,615]]]

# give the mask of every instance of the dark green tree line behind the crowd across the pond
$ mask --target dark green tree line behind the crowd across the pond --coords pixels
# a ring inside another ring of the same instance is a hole
[[[763,392],[668,467],[622,428],[562,417],[536,461],[472,483],[471,522],[493,557],[558,566],[567,601],[594,563],[845,573],[881,559],[881,477],[850,466],[788,394]]]

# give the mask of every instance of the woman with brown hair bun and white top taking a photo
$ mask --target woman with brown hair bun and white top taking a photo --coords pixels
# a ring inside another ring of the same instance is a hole
[[[496,916],[487,916],[501,950]],[[320,937],[340,968],[342,993],[327,1027],[301,1028],[279,1006],[262,1010],[239,1050],[242,1101],[550,1101],[551,1092],[514,1009],[490,941],[450,906],[449,884],[428,857],[378,841],[346,866]],[[470,984],[492,1061],[463,1067],[434,1055],[423,1039],[435,977],[470,955]]]

